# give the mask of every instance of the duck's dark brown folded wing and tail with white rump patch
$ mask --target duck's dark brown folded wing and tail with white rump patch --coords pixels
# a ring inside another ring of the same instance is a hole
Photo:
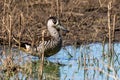
[[[36,40],[19,40],[16,38],[13,38],[14,41],[16,42],[15,47],[19,48],[20,50],[24,51],[24,52],[28,52],[29,50],[31,50],[32,48],[36,48],[42,43],[45,45],[47,42],[49,42],[49,40],[52,39],[51,36],[45,36],[44,37],[44,41],[42,41],[42,37],[37,38]],[[37,51],[37,50],[36,50]]]

